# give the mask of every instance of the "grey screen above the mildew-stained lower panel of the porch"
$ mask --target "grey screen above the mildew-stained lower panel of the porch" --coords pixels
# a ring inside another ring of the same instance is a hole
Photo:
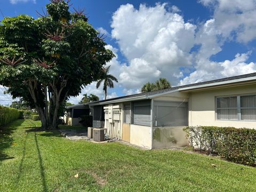
[[[187,102],[154,102],[154,126],[187,126],[188,103]]]

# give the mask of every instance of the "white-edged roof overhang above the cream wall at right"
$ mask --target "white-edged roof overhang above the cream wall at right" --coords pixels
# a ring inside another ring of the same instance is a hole
[[[241,79],[234,79],[234,80],[225,81],[225,82],[215,82],[215,83],[209,83],[209,84],[203,84],[203,85],[183,87],[183,88],[180,88],[179,91],[181,92],[199,91],[199,90],[205,90],[205,89],[213,89],[218,87],[226,87],[231,85],[243,85],[243,84],[251,84],[251,83],[256,83],[256,76],[241,78]]]

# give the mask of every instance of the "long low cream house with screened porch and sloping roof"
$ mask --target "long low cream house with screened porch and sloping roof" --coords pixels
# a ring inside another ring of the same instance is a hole
[[[256,128],[256,73],[86,103],[93,127],[147,149],[183,147],[186,126]]]

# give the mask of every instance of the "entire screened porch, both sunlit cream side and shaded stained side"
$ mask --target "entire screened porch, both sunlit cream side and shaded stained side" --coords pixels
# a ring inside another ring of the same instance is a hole
[[[186,146],[185,126],[188,126],[188,102],[142,100],[123,103],[122,140],[134,145],[150,145],[153,149]]]

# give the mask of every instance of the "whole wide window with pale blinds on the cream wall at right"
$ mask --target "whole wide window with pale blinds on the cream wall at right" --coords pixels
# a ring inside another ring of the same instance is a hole
[[[256,95],[217,98],[217,119],[256,121]]]

